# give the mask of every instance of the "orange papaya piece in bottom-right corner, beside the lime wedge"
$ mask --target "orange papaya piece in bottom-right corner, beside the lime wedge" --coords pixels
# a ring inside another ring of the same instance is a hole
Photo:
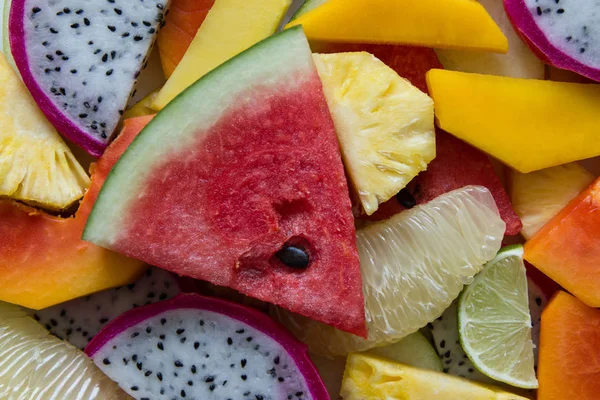
[[[596,400],[600,310],[559,291],[542,313],[538,400]]]

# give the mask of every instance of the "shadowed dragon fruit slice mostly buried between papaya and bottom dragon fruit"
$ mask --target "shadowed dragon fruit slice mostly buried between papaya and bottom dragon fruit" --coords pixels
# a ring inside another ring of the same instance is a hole
[[[54,336],[84,349],[111,320],[132,308],[167,300],[180,292],[173,274],[149,268],[137,282],[33,312]]]

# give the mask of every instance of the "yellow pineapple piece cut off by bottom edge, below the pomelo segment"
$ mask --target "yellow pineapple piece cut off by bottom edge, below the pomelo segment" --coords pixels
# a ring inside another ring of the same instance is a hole
[[[494,386],[364,354],[350,354],[340,395],[344,400],[528,400]]]

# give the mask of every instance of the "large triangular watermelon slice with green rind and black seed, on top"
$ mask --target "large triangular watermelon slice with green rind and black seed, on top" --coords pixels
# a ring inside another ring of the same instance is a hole
[[[159,113],[107,178],[84,239],[366,336],[348,186],[302,29]],[[279,250],[308,255],[306,268]]]

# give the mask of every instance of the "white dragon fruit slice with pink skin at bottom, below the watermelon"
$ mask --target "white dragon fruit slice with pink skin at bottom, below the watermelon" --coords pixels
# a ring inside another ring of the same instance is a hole
[[[137,400],[329,399],[306,347],[283,327],[197,294],[123,314],[85,351]]]

